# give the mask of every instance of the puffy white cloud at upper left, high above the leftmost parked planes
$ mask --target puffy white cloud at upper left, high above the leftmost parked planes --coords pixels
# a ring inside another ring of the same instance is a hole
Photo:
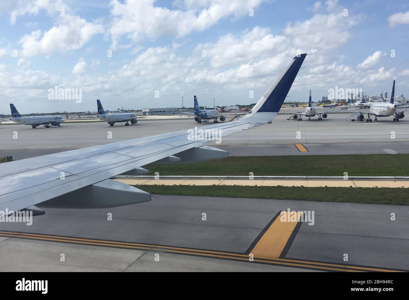
[[[58,19],[59,24],[45,31],[32,31],[23,36],[19,44],[22,55],[49,55],[54,52],[64,53],[81,48],[96,33],[102,32],[101,25],[87,22],[79,16],[66,14]]]

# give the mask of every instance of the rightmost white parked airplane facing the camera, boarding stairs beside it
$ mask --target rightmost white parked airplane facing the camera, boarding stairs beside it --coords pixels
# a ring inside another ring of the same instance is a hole
[[[393,80],[393,87],[392,87],[392,95],[391,95],[391,102],[373,102],[371,103],[371,107],[369,111],[360,111],[353,113],[349,116],[346,120],[347,121],[363,121],[364,115],[367,115],[366,122],[372,122],[371,117],[375,116],[375,121],[378,121],[378,117],[389,117],[393,116],[393,122],[399,121],[405,117],[404,111],[408,111],[409,109],[400,109],[397,111],[397,105],[394,103],[393,98],[395,96],[395,80]]]

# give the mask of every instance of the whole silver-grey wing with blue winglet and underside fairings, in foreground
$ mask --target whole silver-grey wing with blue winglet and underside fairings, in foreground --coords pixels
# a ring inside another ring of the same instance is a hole
[[[265,94],[243,118],[221,124],[97,147],[16,160],[0,164],[0,213],[33,211],[39,207],[103,208],[147,202],[151,195],[110,179],[119,174],[142,174],[151,162],[194,162],[226,157],[227,151],[205,143],[271,121],[278,113],[306,54],[292,59]]]

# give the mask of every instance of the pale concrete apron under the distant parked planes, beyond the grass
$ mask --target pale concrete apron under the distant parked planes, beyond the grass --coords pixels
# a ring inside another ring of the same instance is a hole
[[[373,153],[409,153],[409,122],[346,122],[348,114],[330,114],[322,121],[286,120],[278,115],[272,124],[264,124],[235,133],[208,145],[236,156],[261,155],[338,155]],[[151,136],[160,133],[202,127],[193,120],[150,120],[125,127],[110,127],[103,122],[62,124],[61,127],[32,129],[25,125],[0,126],[0,156],[23,159],[58,151]],[[108,138],[112,133],[112,138]],[[13,138],[16,137],[17,138]],[[301,151],[302,144],[306,151]]]

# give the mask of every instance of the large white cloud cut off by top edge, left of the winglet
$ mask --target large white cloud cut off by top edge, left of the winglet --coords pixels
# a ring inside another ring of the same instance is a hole
[[[121,36],[134,41],[160,36],[183,37],[193,31],[204,31],[227,16],[240,18],[256,8],[262,0],[205,0],[184,2],[187,10],[170,10],[154,6],[155,0],[112,0],[113,21],[109,32],[112,47]],[[178,6],[183,5],[178,3]]]

